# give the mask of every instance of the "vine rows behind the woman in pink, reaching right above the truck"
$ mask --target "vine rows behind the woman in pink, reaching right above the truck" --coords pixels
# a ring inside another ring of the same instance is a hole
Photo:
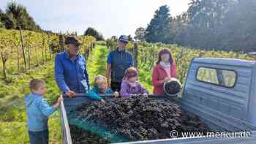
[[[108,50],[113,50],[116,47],[117,41],[107,39],[105,43]],[[162,43],[139,43],[138,48],[135,48],[132,42],[127,45],[133,57],[135,58],[135,64],[138,64],[140,73],[140,80],[148,88],[152,90],[151,86],[151,69],[154,67],[157,61],[157,53],[161,48],[168,48],[173,54],[173,59],[176,62],[176,76],[178,80],[184,82],[184,78],[187,75],[187,69],[192,58],[207,57],[207,58],[239,58],[249,61],[255,61],[256,58],[249,56],[246,53],[226,52],[223,50],[199,50],[195,48],[179,47],[178,45],[165,45]]]

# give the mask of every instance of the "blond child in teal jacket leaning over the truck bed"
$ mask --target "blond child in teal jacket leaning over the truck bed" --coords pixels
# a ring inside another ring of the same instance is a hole
[[[113,94],[115,97],[119,96],[117,91],[113,92],[108,87],[108,80],[102,75],[97,75],[94,77],[94,88],[91,88],[91,90],[87,93],[87,96],[89,96],[91,99],[97,99],[101,102],[105,102],[105,100],[102,99],[99,94]]]

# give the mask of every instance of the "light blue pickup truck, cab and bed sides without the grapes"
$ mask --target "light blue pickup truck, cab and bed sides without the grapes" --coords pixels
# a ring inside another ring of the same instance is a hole
[[[86,100],[78,96],[61,103],[62,143],[72,144],[65,107]],[[178,105],[198,115],[211,136],[179,137],[129,143],[256,144],[256,62],[232,58],[193,58]],[[240,136],[223,132],[241,132]],[[243,133],[244,132],[244,133]],[[214,134],[214,135],[213,135]]]

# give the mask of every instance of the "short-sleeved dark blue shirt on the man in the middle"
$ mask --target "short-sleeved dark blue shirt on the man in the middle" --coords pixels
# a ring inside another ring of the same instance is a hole
[[[111,51],[108,54],[107,63],[111,64],[111,81],[121,83],[124,72],[129,67],[134,67],[132,54],[127,50]]]

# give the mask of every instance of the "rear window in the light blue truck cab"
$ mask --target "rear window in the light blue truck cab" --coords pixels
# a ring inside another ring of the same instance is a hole
[[[236,77],[236,72],[233,70],[208,67],[199,67],[196,74],[197,81],[225,86],[228,88],[233,88],[235,86]]]

